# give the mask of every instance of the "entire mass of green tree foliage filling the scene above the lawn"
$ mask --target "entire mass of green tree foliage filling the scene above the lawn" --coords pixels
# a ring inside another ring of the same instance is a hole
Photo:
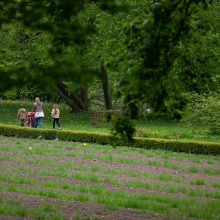
[[[63,100],[74,112],[123,109],[113,134],[131,140],[143,106],[179,120],[199,111],[197,94],[212,105],[205,130],[219,134],[219,8],[215,0],[2,1],[1,96]]]

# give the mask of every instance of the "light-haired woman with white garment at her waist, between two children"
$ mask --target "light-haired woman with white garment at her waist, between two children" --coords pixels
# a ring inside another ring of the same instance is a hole
[[[43,103],[40,101],[39,97],[35,99],[32,112],[34,112],[34,128],[37,128],[38,122],[40,123],[40,128],[43,128]]]

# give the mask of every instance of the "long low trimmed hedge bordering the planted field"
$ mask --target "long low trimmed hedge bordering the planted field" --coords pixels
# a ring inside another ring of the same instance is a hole
[[[53,130],[38,128],[21,128],[18,126],[0,125],[0,134],[4,136],[15,136],[23,138],[42,138],[53,140],[58,138],[63,141],[87,142],[97,144],[109,144],[110,136],[92,132],[77,132],[69,130]],[[209,143],[201,141],[166,140],[157,138],[135,138],[132,143],[120,143],[131,147],[145,149],[163,149],[175,152],[186,152],[195,154],[220,155],[220,143]]]

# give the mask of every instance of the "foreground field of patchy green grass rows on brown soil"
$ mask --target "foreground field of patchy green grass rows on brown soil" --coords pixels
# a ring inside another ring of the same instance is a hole
[[[0,219],[220,219],[220,156],[0,136]]]

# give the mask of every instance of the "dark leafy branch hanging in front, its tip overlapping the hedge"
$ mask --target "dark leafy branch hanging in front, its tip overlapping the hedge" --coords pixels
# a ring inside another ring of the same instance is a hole
[[[189,39],[193,30],[192,16],[207,10],[209,1],[154,1],[145,22],[128,25],[126,77],[118,92],[123,98],[124,115],[116,122],[116,136],[131,139],[132,120],[137,119],[143,104],[151,103],[156,110],[166,111],[169,77],[180,56],[179,45]],[[198,24],[194,24],[197,26]],[[171,83],[171,81],[170,81]],[[125,131],[127,129],[127,131]]]

